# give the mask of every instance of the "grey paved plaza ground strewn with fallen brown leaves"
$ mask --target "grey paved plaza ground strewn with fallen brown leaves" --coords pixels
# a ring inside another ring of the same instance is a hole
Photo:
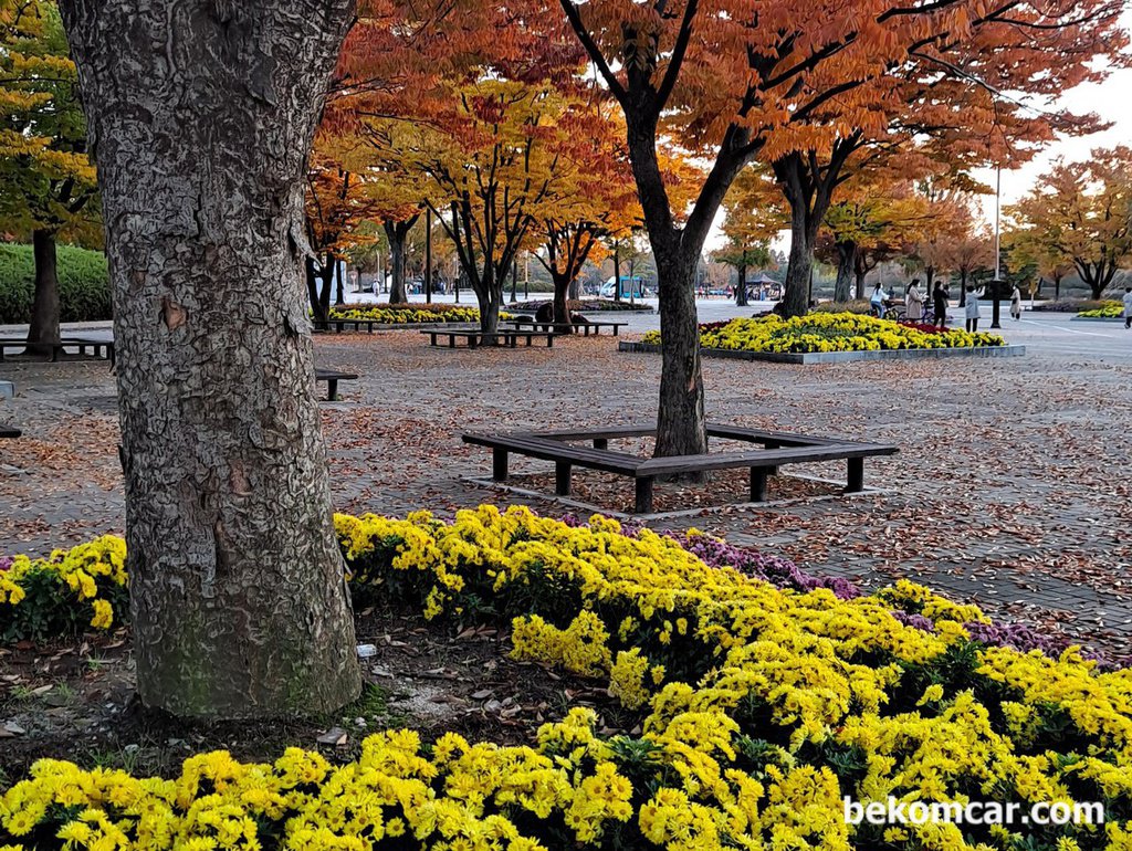
[[[751,309],[709,302],[701,312],[712,320]],[[657,325],[655,316],[626,318],[634,332]],[[1029,356],[706,362],[713,419],[892,440],[904,452],[869,466],[871,483],[890,488],[883,495],[664,525],[694,524],[868,584],[910,576],[1000,617],[1126,651],[1132,333],[1043,313],[1004,326]],[[366,376],[348,386],[343,402],[325,407],[343,510],[516,501],[465,481],[489,469],[486,453],[461,445],[465,428],[654,416],[659,359],[618,354],[609,337],[568,339],[549,351],[466,352],[428,349],[415,333],[385,333],[321,337],[317,349],[319,363]],[[0,552],[44,552],[120,531],[114,386],[105,363],[0,364],[0,379],[18,388],[14,402],[0,403],[0,422],[26,435],[0,441]]]

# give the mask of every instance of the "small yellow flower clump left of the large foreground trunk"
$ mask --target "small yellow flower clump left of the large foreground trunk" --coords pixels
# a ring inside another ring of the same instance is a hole
[[[127,586],[126,542],[114,535],[55,550],[45,559],[16,556],[0,569],[0,635],[22,635],[22,621],[31,618],[49,631],[66,631],[63,625],[46,622],[59,610],[85,618],[82,626],[110,629],[115,607],[127,603]],[[28,590],[34,590],[32,598]]]

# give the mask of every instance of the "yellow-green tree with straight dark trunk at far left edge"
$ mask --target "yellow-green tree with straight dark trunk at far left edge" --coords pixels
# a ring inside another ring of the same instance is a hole
[[[0,230],[32,239],[31,354],[59,341],[55,241],[101,240],[77,86],[54,3],[0,0]]]

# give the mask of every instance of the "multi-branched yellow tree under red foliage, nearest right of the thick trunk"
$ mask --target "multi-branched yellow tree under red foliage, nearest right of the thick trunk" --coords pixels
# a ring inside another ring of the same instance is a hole
[[[376,167],[423,181],[488,334],[515,259],[537,246],[543,201],[568,183],[567,148],[586,141],[581,51],[547,9],[371,2],[338,65],[333,110],[363,124]]]

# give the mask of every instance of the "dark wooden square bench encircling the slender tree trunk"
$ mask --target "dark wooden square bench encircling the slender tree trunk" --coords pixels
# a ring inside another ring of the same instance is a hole
[[[651,427],[619,427],[574,431],[514,432],[505,435],[465,433],[463,440],[491,449],[491,478],[507,481],[508,456],[525,455],[555,463],[555,493],[571,495],[571,474],[575,466],[600,470],[631,478],[635,482],[635,513],[650,514],[657,479],[713,470],[747,467],[751,471],[751,501],[766,500],[766,483],[787,464],[844,461],[848,466],[846,492],[865,490],[865,458],[894,455],[899,449],[884,444],[864,444],[833,438],[791,435],[730,425],[710,424],[709,437],[760,444],[763,448],[667,458],[642,458],[611,452],[609,440],[655,435]],[[593,446],[573,446],[567,441],[592,441]]]

